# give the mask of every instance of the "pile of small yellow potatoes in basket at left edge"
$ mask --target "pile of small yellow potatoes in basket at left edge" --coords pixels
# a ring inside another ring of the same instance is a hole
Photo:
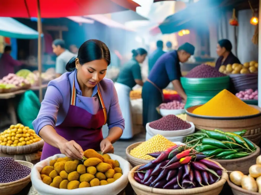
[[[40,140],[41,138],[33,129],[25,127],[21,123],[11,125],[0,133],[0,145],[2,146],[25,146]]]

